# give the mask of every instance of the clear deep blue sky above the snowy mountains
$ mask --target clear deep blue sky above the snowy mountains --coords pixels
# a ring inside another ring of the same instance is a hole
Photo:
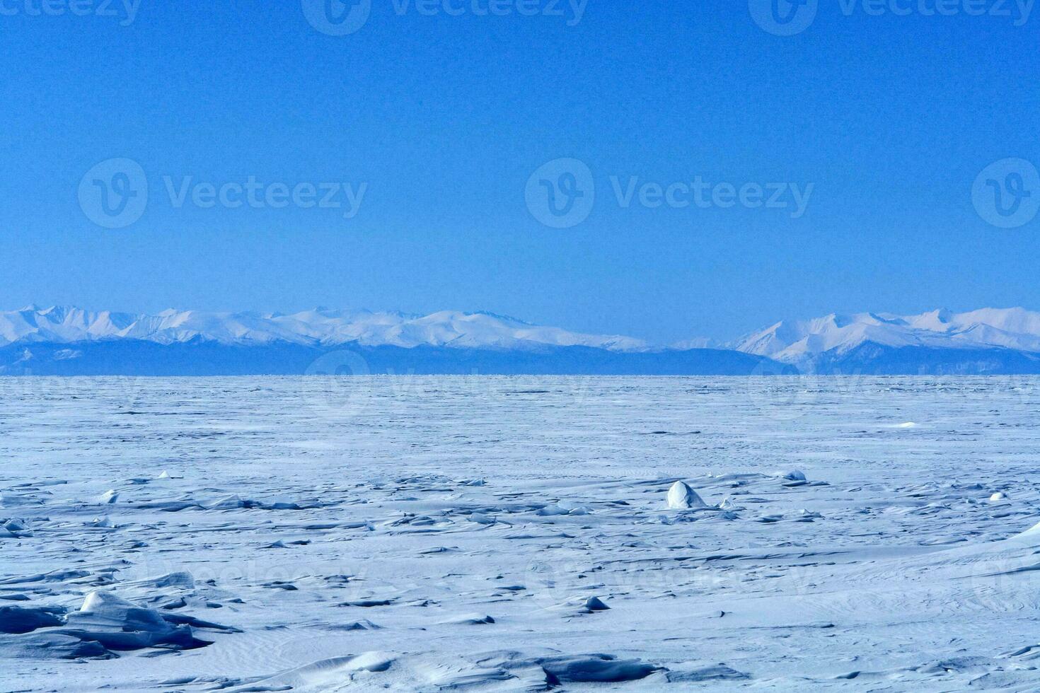
[[[661,342],[833,311],[1040,309],[1040,217],[999,229],[971,197],[994,161],[1040,164],[1040,10],[1016,27],[824,0],[778,36],[742,0],[590,0],[575,26],[568,0],[565,17],[373,0],[333,36],[298,1],[142,0],[129,26],[25,1],[0,16],[3,309],[486,310]],[[119,157],[149,202],[103,229],[77,191]],[[596,185],[569,229],[525,204],[558,158]],[[344,219],[177,208],[167,176],[367,187]],[[791,218],[624,208],[612,176],[814,187]]]

